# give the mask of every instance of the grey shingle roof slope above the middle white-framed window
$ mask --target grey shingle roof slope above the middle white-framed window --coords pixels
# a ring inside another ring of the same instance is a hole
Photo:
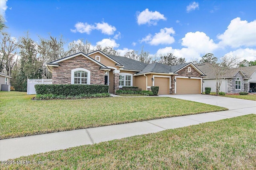
[[[127,70],[143,70],[148,64],[136,61],[133,59],[128,59],[127,57],[108,55],[111,59],[117,61],[120,64],[123,64],[123,69]]]

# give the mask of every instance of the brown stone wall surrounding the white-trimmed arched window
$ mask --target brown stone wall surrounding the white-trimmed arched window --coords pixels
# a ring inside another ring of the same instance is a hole
[[[52,84],[71,84],[71,70],[85,68],[91,72],[90,84],[104,84],[104,71],[100,66],[82,55],[62,61],[52,68]]]

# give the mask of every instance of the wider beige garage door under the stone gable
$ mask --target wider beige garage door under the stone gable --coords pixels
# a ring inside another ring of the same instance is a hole
[[[201,94],[201,79],[176,78],[176,94]]]

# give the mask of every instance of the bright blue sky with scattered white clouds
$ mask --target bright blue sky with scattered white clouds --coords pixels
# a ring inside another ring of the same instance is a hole
[[[12,37],[38,35],[68,43],[88,40],[151,55],[173,53],[187,61],[206,53],[256,60],[256,1],[0,0]]]

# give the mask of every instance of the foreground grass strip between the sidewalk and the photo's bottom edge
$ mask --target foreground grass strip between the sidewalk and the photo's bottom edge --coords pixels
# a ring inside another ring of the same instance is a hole
[[[1,169],[253,170],[256,115],[245,115],[14,159],[44,164]]]

